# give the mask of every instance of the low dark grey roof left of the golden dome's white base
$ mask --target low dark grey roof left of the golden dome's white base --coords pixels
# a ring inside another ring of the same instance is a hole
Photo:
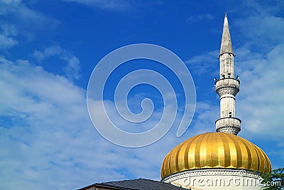
[[[92,186],[105,187],[105,188],[108,187],[116,189],[129,189],[129,190],[188,190],[161,181],[154,181],[151,179],[142,179],[142,178],[130,179],[124,181],[109,181],[101,184],[92,184],[90,186],[86,186],[78,190],[89,189]]]

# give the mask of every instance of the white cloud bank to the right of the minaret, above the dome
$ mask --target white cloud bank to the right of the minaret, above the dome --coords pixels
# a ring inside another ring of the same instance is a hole
[[[242,69],[237,112],[243,120],[243,135],[263,139],[283,137],[283,53],[281,44],[262,56],[239,60]]]

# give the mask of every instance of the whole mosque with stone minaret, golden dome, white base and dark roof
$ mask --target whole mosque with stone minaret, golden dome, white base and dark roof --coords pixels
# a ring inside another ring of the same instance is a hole
[[[220,97],[220,118],[216,132],[198,134],[174,147],[163,160],[161,181],[133,179],[93,184],[89,189],[261,189],[262,173],[271,172],[266,153],[237,134],[235,100],[239,77],[234,73],[234,56],[227,16],[224,18],[219,79],[215,90]]]

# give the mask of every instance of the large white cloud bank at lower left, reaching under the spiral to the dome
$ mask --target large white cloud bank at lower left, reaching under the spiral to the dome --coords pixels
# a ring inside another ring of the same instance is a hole
[[[151,146],[118,147],[94,130],[85,90],[67,78],[28,60],[1,57],[0,79],[0,170],[5,174],[0,189],[77,189],[99,181],[158,180],[165,154],[186,139],[175,137],[175,127]]]

